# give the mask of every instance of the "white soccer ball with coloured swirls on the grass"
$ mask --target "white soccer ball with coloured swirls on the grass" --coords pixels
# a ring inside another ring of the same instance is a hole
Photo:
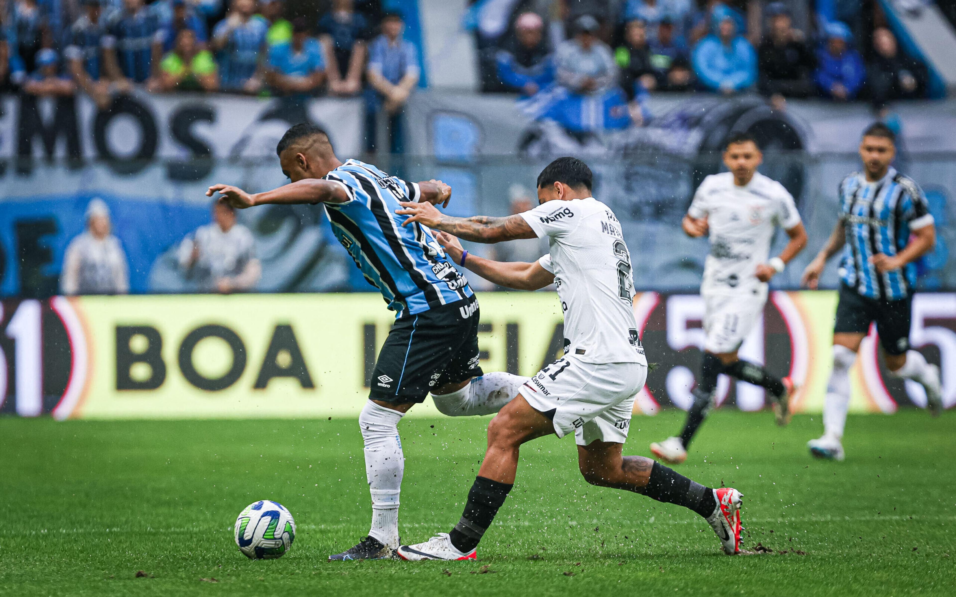
[[[279,502],[262,499],[239,513],[235,538],[250,560],[278,558],[293,546],[295,520]]]

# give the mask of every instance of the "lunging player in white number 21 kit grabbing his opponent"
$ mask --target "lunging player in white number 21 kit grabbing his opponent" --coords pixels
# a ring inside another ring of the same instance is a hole
[[[647,361],[632,313],[631,259],[614,212],[591,195],[580,160],[559,158],[538,176],[537,208],[492,218],[455,218],[433,206],[402,203],[399,213],[439,230],[450,257],[489,281],[519,290],[554,282],[564,312],[564,356],[525,383],[491,420],[488,452],[465,512],[450,533],[402,545],[405,560],[472,560],[513,487],[521,444],[573,434],[581,475],[594,485],[682,505],[704,517],[724,551],[740,550],[740,492],[711,489],[643,456],[621,453]],[[451,234],[475,242],[548,237],[550,254],[501,263],[467,254]]]

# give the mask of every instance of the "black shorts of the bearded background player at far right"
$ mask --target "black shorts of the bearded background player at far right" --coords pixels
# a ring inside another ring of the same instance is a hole
[[[836,334],[865,334],[870,322],[877,322],[877,334],[886,354],[901,355],[909,350],[910,306],[913,298],[880,300],[861,296],[846,284],[840,284],[836,303]]]

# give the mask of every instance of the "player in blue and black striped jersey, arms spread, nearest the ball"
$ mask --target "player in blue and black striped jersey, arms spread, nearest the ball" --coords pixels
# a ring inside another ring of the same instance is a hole
[[[447,205],[441,181],[409,183],[358,160],[341,162],[320,128],[296,124],[276,148],[292,184],[250,194],[214,185],[208,194],[245,209],[268,204],[321,203],[339,242],[365,279],[379,289],[397,320],[379,353],[369,400],[359,415],[372,527],[354,547],[330,560],[394,557],[404,456],[398,423],[431,392],[447,415],[490,414],[508,404],[528,378],[482,372],[478,301],[425,226],[399,215],[401,202]],[[329,339],[335,342],[335,339]]]

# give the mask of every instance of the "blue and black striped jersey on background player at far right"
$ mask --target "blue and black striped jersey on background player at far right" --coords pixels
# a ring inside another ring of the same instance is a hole
[[[838,192],[846,232],[839,270],[843,282],[863,297],[906,298],[915,290],[916,264],[880,274],[870,257],[899,253],[909,242],[910,231],[933,223],[923,190],[891,166],[875,183],[854,172],[843,179]]]

